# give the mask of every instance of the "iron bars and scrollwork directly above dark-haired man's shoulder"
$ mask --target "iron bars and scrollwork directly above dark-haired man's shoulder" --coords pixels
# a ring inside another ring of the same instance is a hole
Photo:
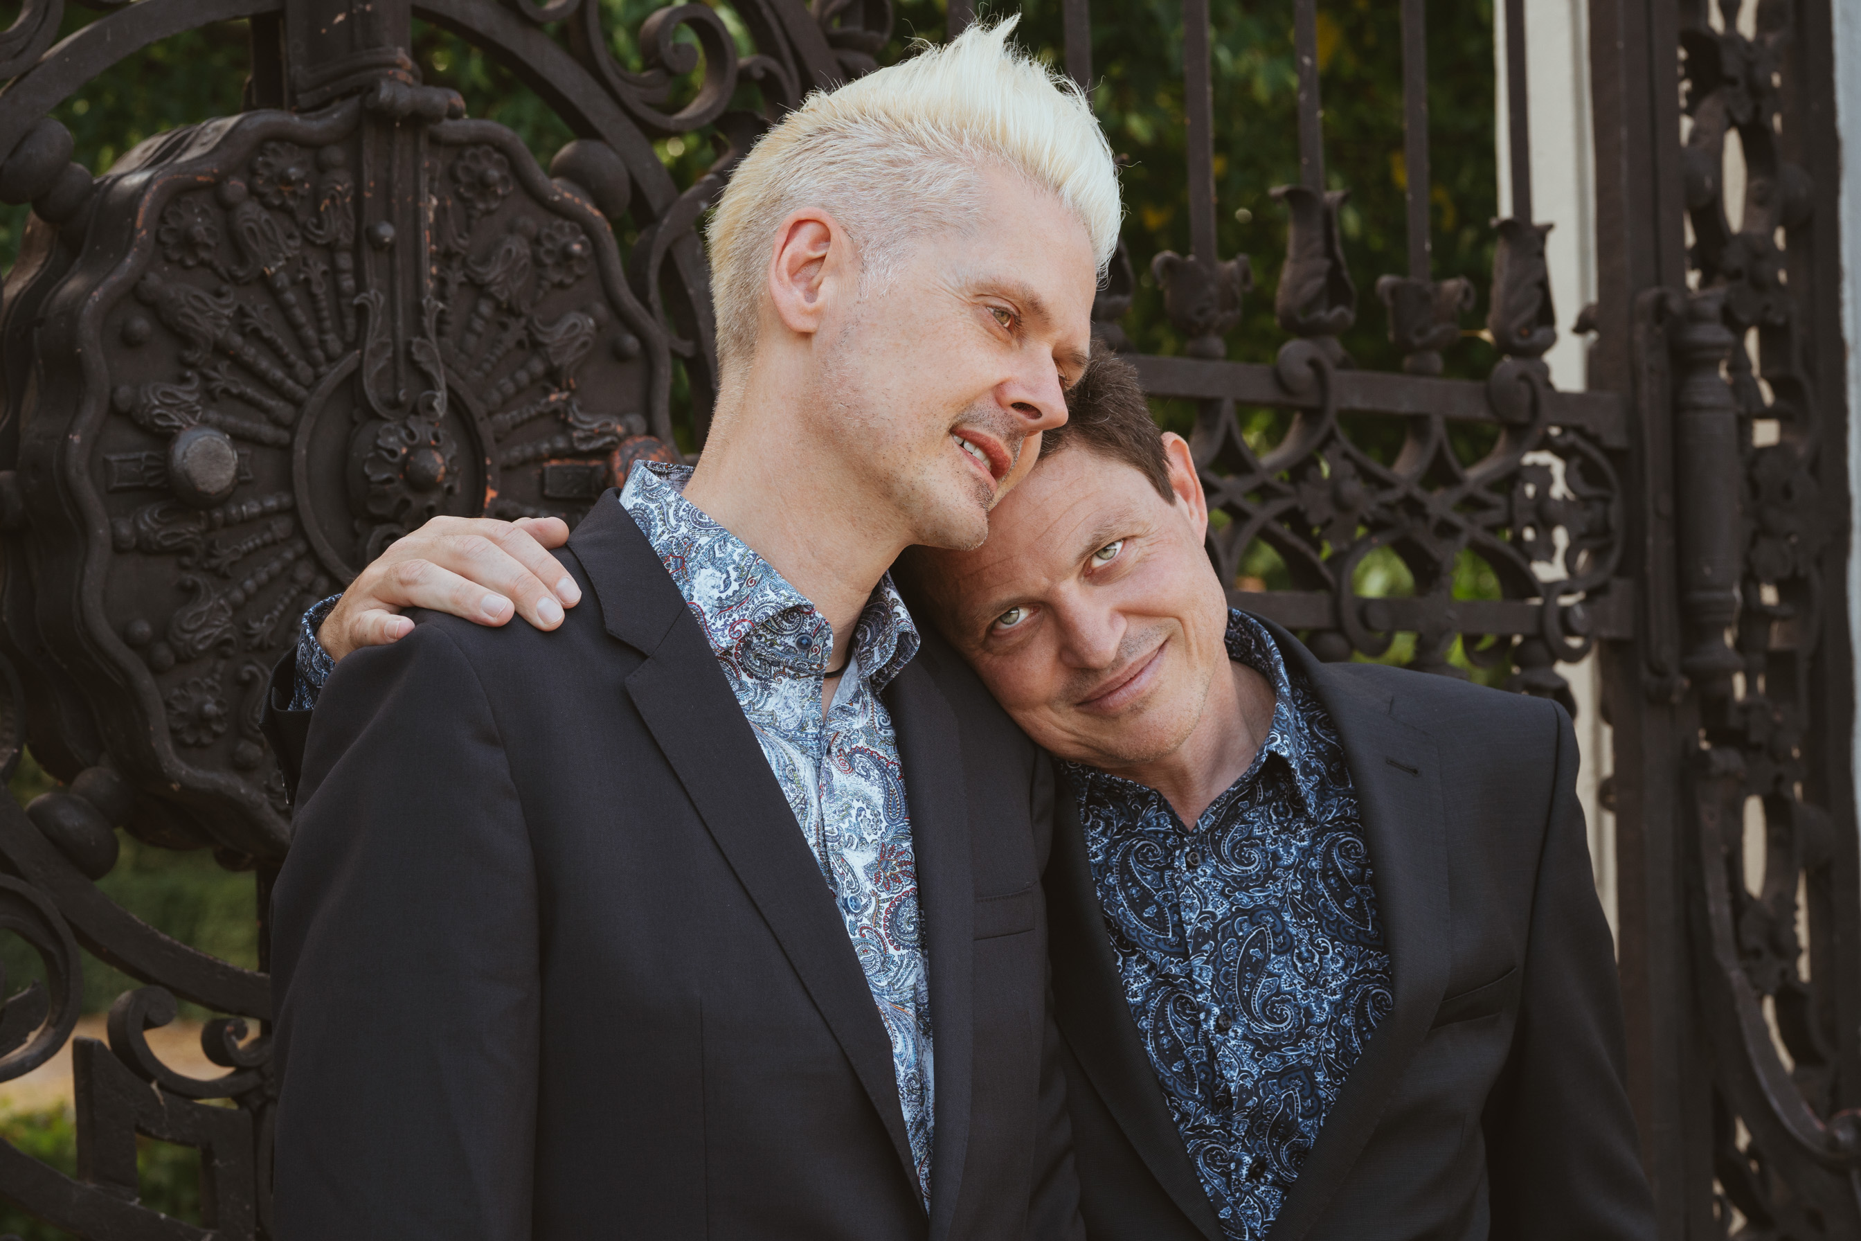
[[[1625,447],[1625,417],[1615,398],[1560,393],[1550,383],[1543,361],[1556,340],[1548,225],[1532,223],[1530,195],[1515,193],[1522,214],[1494,221],[1487,324],[1500,363],[1483,383],[1433,378],[1442,372],[1442,352],[1459,342],[1459,320],[1476,294],[1465,277],[1437,281],[1429,272],[1426,41],[1420,6],[1405,4],[1411,264],[1405,277],[1383,277],[1377,294],[1409,374],[1359,370],[1340,342],[1357,318],[1340,223],[1347,192],[1325,180],[1316,9],[1301,0],[1301,182],[1273,190],[1288,210],[1273,307],[1293,339],[1271,367],[1225,361],[1223,337],[1239,320],[1252,272],[1245,259],[1212,259],[1213,203],[1204,207],[1204,193],[1212,195],[1213,156],[1198,143],[1208,121],[1197,86],[1208,54],[1204,17],[1197,6],[1185,9],[1195,251],[1161,253],[1152,266],[1187,357],[1135,361],[1152,394],[1197,400],[1191,447],[1210,502],[1226,517],[1210,534],[1217,571],[1236,586],[1239,607],[1303,629],[1323,659],[1383,657],[1407,633],[1411,666],[1465,675],[1452,659],[1461,640],[1474,666],[1506,668],[1513,688],[1569,703],[1556,666],[1582,659],[1602,634],[1625,636],[1628,625],[1627,592],[1613,580],[1623,519],[1612,452]],[[1115,287],[1107,294],[1094,316],[1126,305]],[[1243,432],[1243,413],[1260,407],[1284,411],[1277,435]],[[1360,443],[1362,415],[1398,420],[1403,441],[1394,456]],[[1468,452],[1455,424],[1496,434],[1491,447]],[[1262,547],[1284,566],[1290,590],[1241,588],[1243,566]],[[1366,564],[1388,567],[1390,558],[1411,579],[1409,594],[1362,594]],[[1457,597],[1455,579],[1470,562],[1491,569],[1502,599]]]

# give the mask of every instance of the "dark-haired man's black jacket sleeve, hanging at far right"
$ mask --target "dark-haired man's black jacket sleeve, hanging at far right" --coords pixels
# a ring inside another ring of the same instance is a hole
[[[1576,735],[1556,713],[1556,785],[1537,863],[1519,1025],[1485,1111],[1493,1235],[1653,1241],[1625,1087],[1615,945],[1576,800]]]

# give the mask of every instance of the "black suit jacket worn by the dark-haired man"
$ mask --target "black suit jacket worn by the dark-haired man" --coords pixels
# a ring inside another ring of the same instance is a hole
[[[1569,716],[1321,664],[1267,627],[1344,741],[1396,988],[1267,1241],[1651,1239]],[[1064,781],[1055,811],[1053,997],[1087,1228],[1219,1241],[1120,994]]]

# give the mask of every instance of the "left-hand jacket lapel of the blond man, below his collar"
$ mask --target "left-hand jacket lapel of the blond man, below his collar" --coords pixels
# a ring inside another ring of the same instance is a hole
[[[891,1040],[821,867],[703,631],[612,493],[575,528],[569,551],[588,573],[609,634],[646,657],[627,677],[633,705],[839,1040],[916,1183]]]

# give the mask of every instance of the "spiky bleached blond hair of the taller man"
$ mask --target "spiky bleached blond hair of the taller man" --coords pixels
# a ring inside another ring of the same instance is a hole
[[[716,352],[728,372],[756,346],[769,247],[798,207],[834,212],[882,285],[903,244],[981,208],[977,173],[1009,167],[1085,225],[1104,274],[1118,244],[1111,145],[1085,93],[1009,45],[1018,17],[975,24],[832,93],[815,91],[756,143],[718,199],[711,242]]]

